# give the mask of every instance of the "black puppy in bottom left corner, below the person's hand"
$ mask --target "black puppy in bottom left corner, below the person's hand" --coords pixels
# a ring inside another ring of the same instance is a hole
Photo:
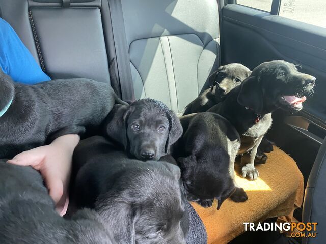
[[[80,210],[72,220],[63,219],[41,175],[5,161],[0,160],[0,243],[115,243],[107,223],[94,210]]]

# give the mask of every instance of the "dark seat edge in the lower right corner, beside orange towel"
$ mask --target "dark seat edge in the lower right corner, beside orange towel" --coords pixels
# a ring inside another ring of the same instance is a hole
[[[315,238],[303,238],[302,243],[326,242],[326,139],[324,139],[314,165],[311,169],[303,205],[302,221],[317,222],[317,235]]]

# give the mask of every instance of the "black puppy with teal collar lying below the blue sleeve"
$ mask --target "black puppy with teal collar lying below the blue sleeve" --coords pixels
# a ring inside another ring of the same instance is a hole
[[[24,85],[1,69],[0,96],[0,158],[96,129],[115,103],[126,104],[109,84],[60,79]]]

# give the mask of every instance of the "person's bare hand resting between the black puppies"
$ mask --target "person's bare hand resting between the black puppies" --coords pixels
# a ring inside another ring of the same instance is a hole
[[[18,154],[8,163],[32,166],[40,171],[56,203],[56,210],[63,216],[68,207],[68,184],[70,179],[72,154],[79,142],[78,135],[64,135],[51,144],[37,147]]]

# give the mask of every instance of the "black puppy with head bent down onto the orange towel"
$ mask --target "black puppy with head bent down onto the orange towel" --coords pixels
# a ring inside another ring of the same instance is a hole
[[[240,136],[222,116],[203,112],[180,118],[181,139],[173,147],[188,200],[210,207],[214,198],[218,210],[231,196],[235,202],[248,199],[234,182],[234,160],[240,148]],[[235,187],[236,186],[236,187]]]

